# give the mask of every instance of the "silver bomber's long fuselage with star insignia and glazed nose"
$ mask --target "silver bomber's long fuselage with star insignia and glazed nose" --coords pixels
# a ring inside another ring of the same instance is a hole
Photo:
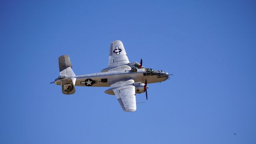
[[[144,83],[147,79],[148,83],[162,82],[169,77],[169,74],[164,71],[156,71],[149,68],[138,69],[137,72],[131,70],[119,70],[110,72],[99,72],[94,74],[84,74],[74,76],[76,78],[75,86],[96,86],[96,87],[108,87],[110,84],[118,82],[124,79],[132,78],[134,82]],[[56,78],[55,84],[61,85],[61,77]]]

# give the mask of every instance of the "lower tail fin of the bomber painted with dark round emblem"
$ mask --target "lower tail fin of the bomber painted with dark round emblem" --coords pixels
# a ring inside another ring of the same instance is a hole
[[[63,94],[74,94],[76,78],[66,78],[61,80],[61,88]]]

